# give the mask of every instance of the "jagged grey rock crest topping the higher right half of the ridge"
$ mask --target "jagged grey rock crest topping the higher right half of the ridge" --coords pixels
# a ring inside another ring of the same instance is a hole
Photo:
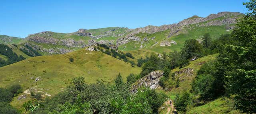
[[[117,44],[125,44],[130,41],[129,37],[134,37],[138,33],[155,33],[158,31],[164,31],[170,29],[168,37],[172,35],[178,35],[185,27],[188,27],[190,24],[196,24],[196,26],[222,26],[225,25],[227,29],[233,29],[234,26],[230,24],[236,24],[236,19],[244,14],[238,12],[220,12],[218,14],[210,14],[206,18],[199,16],[192,16],[188,19],[182,20],[178,24],[169,24],[163,26],[146,26],[144,28],[136,28],[131,33],[126,35],[126,37],[121,37],[118,39]]]

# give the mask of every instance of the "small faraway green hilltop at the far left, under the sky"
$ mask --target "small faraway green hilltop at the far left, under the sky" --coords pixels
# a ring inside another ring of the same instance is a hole
[[[0,44],[18,44],[22,42],[22,38],[20,37],[10,37],[8,35],[0,35]]]

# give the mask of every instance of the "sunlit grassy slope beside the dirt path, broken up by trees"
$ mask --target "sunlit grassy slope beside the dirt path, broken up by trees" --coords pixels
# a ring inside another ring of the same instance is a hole
[[[168,96],[174,100],[176,94],[182,92],[183,90],[190,90],[191,89],[191,83],[193,79],[196,76],[197,71],[200,69],[202,65],[198,65],[198,63],[204,63],[207,61],[212,61],[216,59],[218,54],[214,55],[208,55],[202,58],[199,58],[195,61],[191,61],[190,64],[187,67],[184,68],[193,68],[193,75],[192,77],[185,77],[184,81],[180,81],[180,87],[174,88],[170,91],[164,91],[164,90],[158,90],[162,92],[166,92]],[[182,69],[184,69],[182,68]],[[176,68],[173,69],[171,72],[180,71],[181,69]],[[182,75],[178,75],[180,77]],[[238,110],[235,110],[232,108],[233,100],[227,97],[220,97],[216,100],[210,101],[202,106],[196,106],[194,108],[191,108],[186,112],[186,114],[240,114]],[[161,110],[160,114],[164,114],[166,110]]]

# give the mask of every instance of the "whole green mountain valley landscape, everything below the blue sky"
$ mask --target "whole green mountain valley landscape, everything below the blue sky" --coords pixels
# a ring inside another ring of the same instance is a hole
[[[251,15],[219,12],[135,29],[0,35],[0,106],[6,106],[0,111],[253,114]]]

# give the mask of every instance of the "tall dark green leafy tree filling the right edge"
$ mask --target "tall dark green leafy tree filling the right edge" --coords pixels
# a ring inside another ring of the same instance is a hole
[[[235,97],[236,108],[246,113],[256,113],[256,1],[244,3],[249,11],[235,25],[232,39],[235,43],[227,45],[226,53],[221,53],[229,60],[227,88]]]

